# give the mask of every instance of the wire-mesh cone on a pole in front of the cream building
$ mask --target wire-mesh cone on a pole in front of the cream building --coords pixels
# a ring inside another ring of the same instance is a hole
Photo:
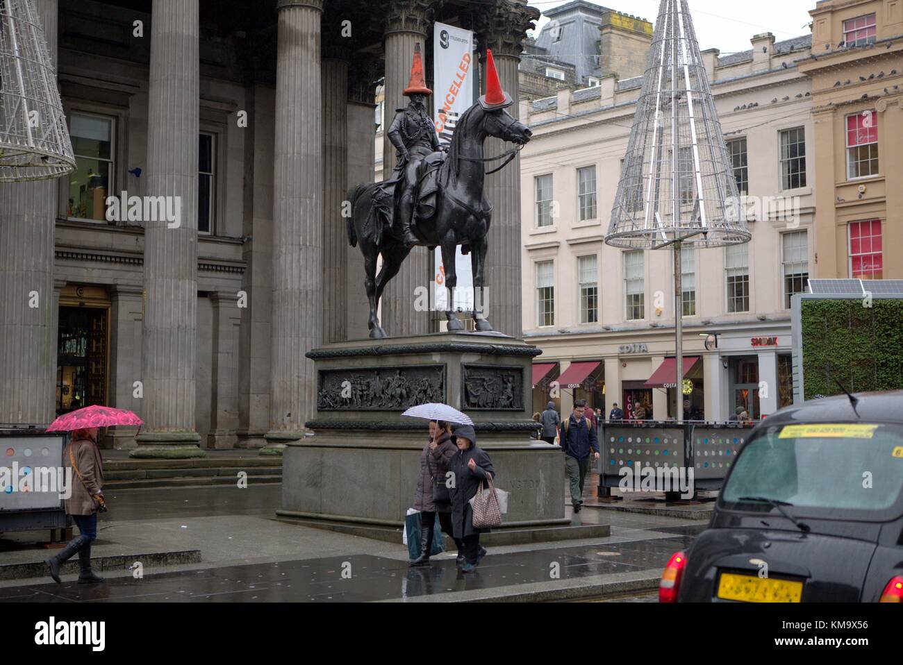
[[[749,242],[686,0],[662,0],[605,242]]]

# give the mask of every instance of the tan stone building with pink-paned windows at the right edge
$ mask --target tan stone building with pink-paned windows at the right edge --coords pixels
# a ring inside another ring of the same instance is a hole
[[[903,0],[810,12],[815,276],[903,279]]]

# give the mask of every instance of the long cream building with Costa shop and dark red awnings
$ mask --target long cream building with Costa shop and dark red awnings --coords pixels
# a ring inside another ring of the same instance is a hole
[[[751,47],[703,51],[752,232],[748,245],[684,249],[681,393],[707,420],[792,401],[790,297],[815,264],[811,37],[759,34]],[[607,76],[522,104],[534,132],[522,153],[524,334],[544,351],[536,411],[550,398],[563,412],[575,398],[606,413],[614,402],[659,420],[673,411],[673,255],[604,244],[641,83]]]

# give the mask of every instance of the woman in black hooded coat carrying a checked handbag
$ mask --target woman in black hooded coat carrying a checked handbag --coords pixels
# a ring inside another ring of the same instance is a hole
[[[492,460],[482,448],[477,448],[477,435],[470,425],[456,425],[452,429],[452,439],[458,452],[449,462],[449,471],[454,474],[452,494],[452,535],[458,543],[459,551],[463,551],[463,561],[459,558],[461,572],[472,573],[479,559],[486,553],[479,547],[479,534],[489,529],[476,529],[473,526],[473,509],[470,499],[477,494],[480,481],[487,476],[496,477],[492,468]]]

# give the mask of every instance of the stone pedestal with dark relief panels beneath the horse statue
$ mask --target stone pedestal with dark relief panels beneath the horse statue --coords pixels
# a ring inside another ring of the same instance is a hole
[[[530,439],[535,346],[501,334],[439,333],[357,340],[311,351],[313,437],[289,441],[278,514],[397,526],[414,502],[425,420],[414,404],[445,402],[474,421],[498,487],[511,493],[506,527],[568,523],[560,448]]]

